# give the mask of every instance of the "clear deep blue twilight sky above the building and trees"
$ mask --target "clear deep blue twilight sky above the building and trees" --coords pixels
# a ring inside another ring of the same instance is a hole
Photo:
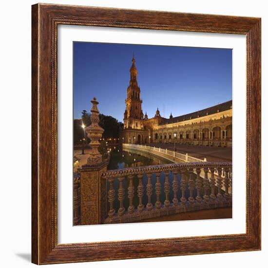
[[[232,98],[232,50],[74,42],[74,118],[99,111],[123,122],[133,52],[143,113],[184,115]]]

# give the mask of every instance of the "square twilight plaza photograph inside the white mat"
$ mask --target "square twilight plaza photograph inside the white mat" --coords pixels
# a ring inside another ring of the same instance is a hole
[[[74,225],[232,217],[232,50],[73,43]]]

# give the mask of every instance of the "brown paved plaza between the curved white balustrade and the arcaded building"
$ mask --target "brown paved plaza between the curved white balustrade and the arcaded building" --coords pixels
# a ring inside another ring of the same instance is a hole
[[[149,145],[149,144],[147,144]],[[151,143],[151,146],[162,149],[174,150],[174,144],[167,143]],[[230,162],[232,161],[232,148],[220,148],[187,144],[176,144],[176,152],[188,153],[188,155],[204,159],[207,158],[208,162]]]

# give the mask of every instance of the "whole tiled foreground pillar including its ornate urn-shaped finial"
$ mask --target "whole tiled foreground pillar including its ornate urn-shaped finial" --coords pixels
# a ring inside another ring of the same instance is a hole
[[[91,125],[85,131],[90,138],[90,151],[87,164],[80,168],[81,172],[81,225],[100,224],[107,214],[107,184],[101,179],[102,172],[106,172],[108,161],[102,159],[98,152],[99,139],[104,130],[98,125],[99,111],[96,98],[91,101]]]

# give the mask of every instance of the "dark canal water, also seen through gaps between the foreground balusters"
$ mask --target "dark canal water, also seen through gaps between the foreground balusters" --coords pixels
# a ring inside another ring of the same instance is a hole
[[[156,157],[150,153],[139,153],[137,151],[129,150],[129,149],[120,149],[117,147],[111,147],[110,150],[111,153],[111,158],[110,162],[108,165],[108,170],[116,170],[116,169],[124,169],[124,168],[130,168],[130,167],[142,167],[142,166],[150,166],[150,165],[162,165],[162,164],[171,164],[172,162]],[[178,185],[180,185],[181,182],[181,176],[177,174],[177,179],[178,179]],[[187,181],[188,181],[188,175],[187,175]],[[195,176],[193,176],[193,179],[195,180]],[[173,173],[169,173],[169,183],[170,183],[170,193],[169,193],[169,200],[172,203],[173,199],[173,191],[172,191],[172,181],[173,181]],[[143,205],[146,206],[148,203],[148,197],[146,194],[146,185],[148,182],[148,177],[146,174],[143,175],[142,178],[142,184],[144,188],[144,193],[143,193]],[[155,193],[155,183],[156,183],[156,176],[155,173],[152,175],[152,186],[153,186],[153,194],[151,197],[151,202],[153,205],[156,202],[156,193]],[[162,204],[164,204],[165,201],[165,192],[164,192],[164,183],[165,183],[165,175],[163,172],[160,174],[160,183],[161,183],[161,194],[160,194],[160,201]],[[109,183],[107,182],[107,189],[109,189]],[[134,185],[134,207],[135,209],[138,206],[138,193],[137,193],[137,187],[138,187],[138,177],[135,175],[133,179],[133,185]],[[128,187],[129,187],[129,180],[127,177],[125,177],[125,180],[123,182],[124,190],[125,190],[125,198],[124,198],[124,207],[125,210],[128,209],[129,207],[129,198],[128,198]],[[118,188],[119,188],[119,182],[118,179],[114,180],[114,189],[115,189],[115,202],[114,202],[114,208],[115,211],[117,212],[119,208],[119,201],[118,201]],[[107,192],[108,193],[108,192]],[[186,198],[188,199],[189,197],[189,189],[187,187],[186,190]],[[196,190],[193,192],[194,196],[196,196]],[[108,195],[108,194],[107,194]],[[181,191],[180,189],[177,192],[177,198],[180,201],[181,198]],[[109,204],[109,203],[108,203]],[[109,205],[108,205],[108,211],[109,211]]]

